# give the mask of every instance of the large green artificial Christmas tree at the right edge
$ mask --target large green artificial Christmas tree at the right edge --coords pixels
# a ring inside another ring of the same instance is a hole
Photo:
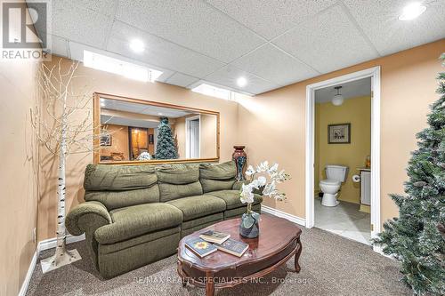
[[[406,196],[391,195],[399,206],[399,218],[385,222],[384,232],[374,240],[385,254],[401,261],[403,280],[416,294],[445,294],[444,72],[438,80],[441,98],[431,107],[429,127],[417,133],[418,149],[409,161]]]

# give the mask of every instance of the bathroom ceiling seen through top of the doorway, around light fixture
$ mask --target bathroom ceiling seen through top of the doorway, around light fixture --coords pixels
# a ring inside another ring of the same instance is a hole
[[[340,93],[344,100],[370,96],[371,95],[371,77],[354,80],[346,84],[337,84],[315,91],[315,102],[326,103],[331,101],[336,94],[335,86],[342,86]]]

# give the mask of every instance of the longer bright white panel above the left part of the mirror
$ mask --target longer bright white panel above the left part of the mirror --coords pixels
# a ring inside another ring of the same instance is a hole
[[[89,51],[84,51],[84,65],[88,68],[95,68],[142,82],[155,82],[162,75],[161,71],[155,69]]]

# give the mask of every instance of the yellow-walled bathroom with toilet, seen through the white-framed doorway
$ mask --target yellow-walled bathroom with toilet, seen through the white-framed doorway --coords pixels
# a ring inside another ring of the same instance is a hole
[[[371,78],[315,91],[315,227],[370,244]]]

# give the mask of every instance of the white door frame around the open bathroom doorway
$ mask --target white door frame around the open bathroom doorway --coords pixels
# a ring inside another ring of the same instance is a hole
[[[371,77],[371,237],[380,232],[380,67],[338,76],[306,86],[306,227],[314,225],[315,91]],[[376,249],[375,249],[376,250]]]

